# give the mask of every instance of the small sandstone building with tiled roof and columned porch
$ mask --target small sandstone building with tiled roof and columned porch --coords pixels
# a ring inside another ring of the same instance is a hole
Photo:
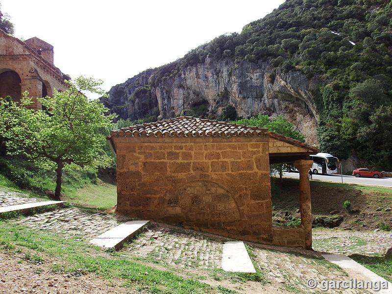
[[[117,213],[264,244],[312,247],[308,171],[319,150],[264,128],[179,117],[112,131]],[[270,164],[294,162],[301,224],[272,225]]]

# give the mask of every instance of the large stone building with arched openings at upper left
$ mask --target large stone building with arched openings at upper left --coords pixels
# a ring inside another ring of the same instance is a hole
[[[22,42],[0,30],[0,97],[20,101],[28,91],[31,108],[41,109],[36,98],[53,96],[54,89],[64,91],[67,84],[53,64],[53,46],[37,37]]]

